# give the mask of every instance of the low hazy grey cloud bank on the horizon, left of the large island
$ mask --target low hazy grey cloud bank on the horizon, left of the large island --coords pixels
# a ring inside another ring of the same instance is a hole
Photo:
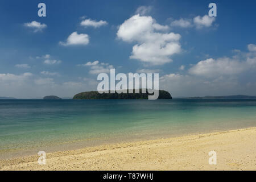
[[[42,98],[49,95],[73,97],[80,92],[97,90],[97,83],[94,78],[84,78],[57,84],[52,78],[40,78],[32,73],[0,73],[0,95],[16,98]]]

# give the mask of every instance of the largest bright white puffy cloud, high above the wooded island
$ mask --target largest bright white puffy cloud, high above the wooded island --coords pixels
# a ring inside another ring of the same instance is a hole
[[[181,36],[167,31],[168,26],[156,23],[151,16],[139,14],[119,26],[117,37],[125,42],[135,42],[130,59],[161,65],[172,61],[170,56],[181,51]]]

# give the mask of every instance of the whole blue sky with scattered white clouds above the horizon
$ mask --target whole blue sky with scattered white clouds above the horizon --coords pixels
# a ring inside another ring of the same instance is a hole
[[[46,17],[38,4],[46,4]],[[209,17],[209,3],[217,17]],[[159,73],[173,97],[256,95],[255,1],[1,1],[0,97],[73,97]]]

